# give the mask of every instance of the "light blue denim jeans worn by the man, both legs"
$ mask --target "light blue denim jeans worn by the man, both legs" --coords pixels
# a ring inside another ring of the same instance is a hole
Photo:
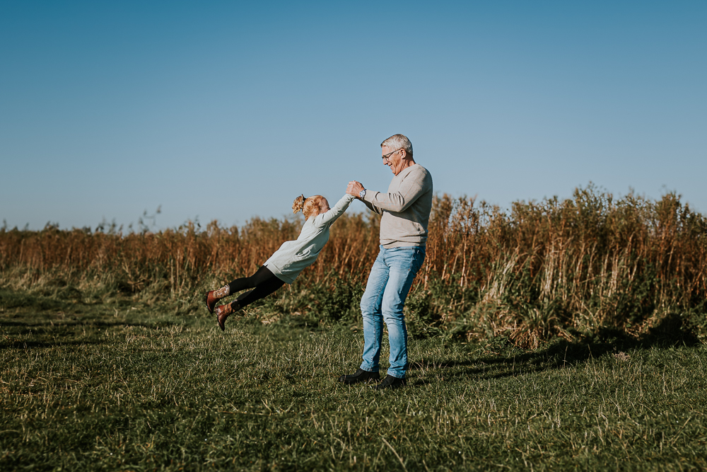
[[[370,269],[366,292],[361,299],[363,315],[363,362],[361,369],[378,372],[383,321],[388,328],[390,367],[388,375],[405,378],[407,371],[407,328],[402,308],[412,281],[425,260],[425,248],[386,249],[380,246]]]

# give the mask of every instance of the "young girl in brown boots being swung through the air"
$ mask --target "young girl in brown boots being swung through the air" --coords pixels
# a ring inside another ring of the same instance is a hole
[[[334,208],[329,209],[329,202],[322,195],[307,199],[304,195],[297,197],[292,204],[292,212],[303,212],[307,220],[302,226],[300,236],[295,241],[284,242],[255,274],[236,279],[206,294],[206,308],[210,313],[216,311],[219,328],[226,329],[224,323],[231,313],[267,297],[286,283],[291,284],[300,272],[312,265],[329,241],[329,226],[344,214],[353,200],[351,195],[344,195]],[[252,290],[241,294],[230,304],[216,306],[216,301],[245,289]]]

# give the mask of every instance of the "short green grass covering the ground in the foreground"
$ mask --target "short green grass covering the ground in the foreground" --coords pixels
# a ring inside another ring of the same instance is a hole
[[[3,471],[707,468],[689,337],[413,339],[409,387],[376,392],[336,381],[349,326],[64,292],[0,291]]]

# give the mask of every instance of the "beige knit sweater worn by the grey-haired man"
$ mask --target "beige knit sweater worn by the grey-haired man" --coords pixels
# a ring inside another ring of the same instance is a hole
[[[432,210],[432,175],[414,164],[395,175],[388,192],[366,190],[366,207],[380,219],[380,244],[384,248],[425,246]]]

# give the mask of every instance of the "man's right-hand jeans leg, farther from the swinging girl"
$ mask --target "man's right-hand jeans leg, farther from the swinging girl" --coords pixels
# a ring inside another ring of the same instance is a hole
[[[381,311],[388,328],[390,367],[387,374],[404,379],[407,372],[407,327],[405,299],[425,258],[424,248],[393,248],[385,252],[389,277],[383,292]]]

